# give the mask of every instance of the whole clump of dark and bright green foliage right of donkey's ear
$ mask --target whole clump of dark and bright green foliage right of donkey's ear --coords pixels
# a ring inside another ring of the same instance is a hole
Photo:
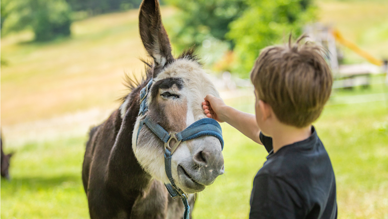
[[[303,25],[314,19],[311,1],[166,0],[181,9],[168,26],[169,34],[178,50],[201,46],[206,40],[227,42],[238,57],[233,72],[247,77],[260,49],[279,43],[291,31],[299,35]]]

